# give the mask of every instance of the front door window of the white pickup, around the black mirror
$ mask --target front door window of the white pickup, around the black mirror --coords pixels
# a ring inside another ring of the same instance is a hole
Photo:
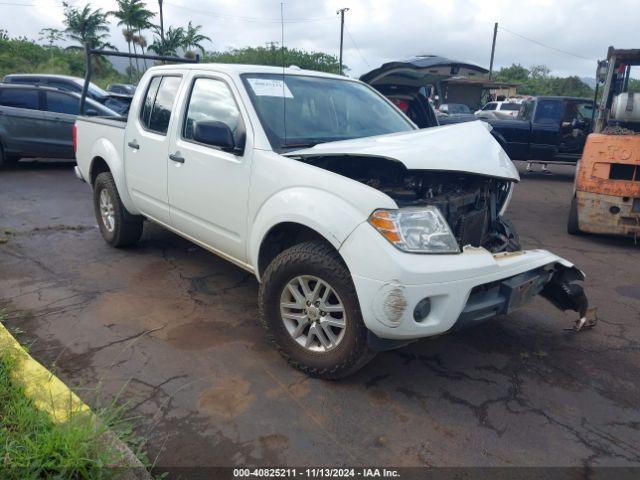
[[[244,127],[229,87],[221,80],[197,78],[193,83],[182,136],[193,139],[196,122],[217,120],[229,126],[236,145],[242,144]]]

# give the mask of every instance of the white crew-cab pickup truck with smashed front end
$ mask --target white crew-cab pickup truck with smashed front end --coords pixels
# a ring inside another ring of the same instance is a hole
[[[419,130],[336,75],[161,66],[128,119],[78,118],[76,174],[107,243],[150,220],[254,273],[282,355],[339,378],[539,293],[584,317],[582,272],[503,218],[519,177],[489,128]]]

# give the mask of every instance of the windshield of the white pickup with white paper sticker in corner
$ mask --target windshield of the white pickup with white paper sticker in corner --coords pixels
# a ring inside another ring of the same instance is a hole
[[[242,76],[274,150],[406,132],[415,127],[358,82],[302,75]]]

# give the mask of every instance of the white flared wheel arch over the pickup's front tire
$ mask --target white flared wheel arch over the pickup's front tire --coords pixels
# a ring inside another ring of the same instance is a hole
[[[298,223],[311,228],[339,249],[369,213],[327,190],[311,187],[281,190],[262,204],[250,226],[249,263],[259,275],[258,257],[262,240],[280,223]]]

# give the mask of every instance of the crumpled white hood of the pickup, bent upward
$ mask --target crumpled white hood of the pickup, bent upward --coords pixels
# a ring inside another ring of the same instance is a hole
[[[490,131],[486,122],[466,122],[321,143],[286,156],[375,156],[401,162],[409,170],[457,171],[519,181],[518,169]]]

